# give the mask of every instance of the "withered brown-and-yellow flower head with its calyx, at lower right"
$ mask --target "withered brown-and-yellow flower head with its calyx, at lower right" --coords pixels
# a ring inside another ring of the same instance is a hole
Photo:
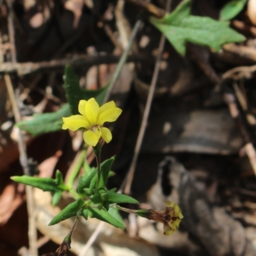
[[[163,223],[165,236],[172,235],[179,228],[183,218],[179,205],[171,201],[166,202],[165,211],[139,210],[136,211],[136,214]]]

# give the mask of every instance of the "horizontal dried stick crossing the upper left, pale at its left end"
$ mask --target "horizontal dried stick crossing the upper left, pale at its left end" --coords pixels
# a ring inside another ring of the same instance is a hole
[[[126,62],[147,60],[147,56],[143,54],[134,54],[127,57]],[[76,56],[74,58],[67,58],[62,60],[51,60],[42,62],[26,62],[26,63],[12,63],[6,62],[0,65],[0,74],[17,73],[19,76],[31,74],[33,72],[44,70],[63,69],[67,63],[73,67],[88,66],[100,64],[117,63],[120,56],[113,54],[99,55],[99,56]]]

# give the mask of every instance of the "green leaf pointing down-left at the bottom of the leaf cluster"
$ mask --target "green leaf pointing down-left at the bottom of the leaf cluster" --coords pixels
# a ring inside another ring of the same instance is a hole
[[[48,224],[49,226],[55,225],[60,221],[67,220],[68,218],[74,217],[77,215],[77,212],[84,206],[84,201],[82,199],[76,200],[67,207],[65,207],[59,214],[57,214],[51,222]]]

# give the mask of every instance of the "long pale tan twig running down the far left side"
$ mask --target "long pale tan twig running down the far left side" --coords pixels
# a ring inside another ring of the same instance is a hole
[[[10,101],[12,104],[13,115],[15,117],[15,122],[20,121],[19,107],[17,105],[17,100],[15,99],[15,94],[13,91],[12,81],[9,75],[4,75],[4,81],[8,90]],[[22,132],[18,131],[18,147],[20,152],[20,164],[23,168],[23,172],[29,175],[29,164],[28,156],[26,153],[26,144],[24,143]],[[33,198],[33,188],[31,186],[26,186],[27,195],[27,207],[28,207],[28,239],[29,239],[29,252],[31,256],[37,256],[37,233],[36,233],[36,222],[35,222],[35,202]]]

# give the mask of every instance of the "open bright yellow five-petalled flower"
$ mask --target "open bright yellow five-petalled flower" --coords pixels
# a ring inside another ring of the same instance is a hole
[[[95,147],[102,138],[106,143],[112,140],[111,131],[102,127],[105,122],[115,122],[122,113],[122,109],[116,108],[115,102],[110,101],[99,107],[94,98],[89,100],[80,100],[78,111],[81,115],[63,117],[62,129],[76,131],[79,128],[85,128],[83,133],[85,143]]]

